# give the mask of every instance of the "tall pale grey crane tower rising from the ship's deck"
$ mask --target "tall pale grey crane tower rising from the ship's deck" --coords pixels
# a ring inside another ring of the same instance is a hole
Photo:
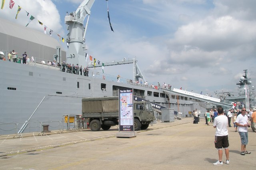
[[[71,12],[65,16],[65,23],[68,25],[66,42],[68,44],[68,51],[66,53],[66,62],[71,64],[79,64],[79,66],[86,66],[85,60],[85,34],[88,26],[90,9],[95,0],[84,0],[77,8],[76,12]],[[84,27],[84,20],[87,18]]]

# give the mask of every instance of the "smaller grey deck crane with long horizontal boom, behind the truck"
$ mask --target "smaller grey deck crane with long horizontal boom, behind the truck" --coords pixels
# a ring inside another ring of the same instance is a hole
[[[116,66],[116,65],[121,65],[121,64],[133,64],[133,81],[139,81],[139,78],[141,78],[144,82],[146,82],[145,77],[143,76],[137,60],[135,58],[124,58],[122,60],[112,60],[112,61],[105,61],[102,62],[104,63],[104,67],[105,66]],[[96,64],[95,67],[101,67],[102,65],[100,64]],[[94,62],[89,62],[88,63],[88,68],[94,68]]]

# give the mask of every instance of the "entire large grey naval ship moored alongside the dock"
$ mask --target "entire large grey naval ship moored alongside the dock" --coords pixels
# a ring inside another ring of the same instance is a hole
[[[4,130],[0,128],[0,135],[14,134],[13,130],[8,131],[12,124],[62,121],[64,115],[79,115],[82,98],[118,96],[121,88],[133,88],[134,96],[138,96],[136,100],[152,102],[156,114],[160,114],[162,107],[174,108],[178,117],[186,117],[191,116],[196,108],[204,114],[207,108],[232,106],[231,102],[220,98],[140,84],[138,82],[145,81],[145,78],[135,59],[118,62],[134,64],[134,77],[121,78],[120,82],[116,81],[116,76],[100,72],[90,71],[89,76],[83,76],[64,71],[63,62],[86,67],[82,63],[86,63],[84,36],[88,19],[86,26],[84,19],[89,16],[93,3],[94,0],[84,0],[76,12],[65,16],[69,31],[67,52],[51,36],[0,18],[0,49],[3,54],[0,60],[0,127],[5,127]],[[21,64],[22,60],[21,63],[9,62],[7,56],[13,49],[19,56],[28,49],[30,56],[36,57],[26,64]],[[47,63],[53,60],[60,65]]]

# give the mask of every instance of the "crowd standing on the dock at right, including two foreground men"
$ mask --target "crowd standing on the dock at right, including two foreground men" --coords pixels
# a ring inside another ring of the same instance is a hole
[[[199,114],[197,109],[193,111],[194,123],[198,124]],[[234,126],[234,132],[238,132],[241,140],[241,155],[250,154],[247,151],[246,145],[248,145],[248,128],[252,128],[253,132],[256,132],[256,108],[246,110],[246,108],[230,108],[228,112],[224,112],[222,107],[214,110],[207,110],[205,113],[206,124],[213,123],[213,127],[216,128],[215,132],[215,148],[218,150],[218,161],[213,165],[223,165],[222,155],[224,148],[226,155],[226,164],[230,164],[229,160],[229,142],[228,142],[228,127]],[[250,124],[248,123],[250,121]],[[232,122],[232,123],[231,123]]]

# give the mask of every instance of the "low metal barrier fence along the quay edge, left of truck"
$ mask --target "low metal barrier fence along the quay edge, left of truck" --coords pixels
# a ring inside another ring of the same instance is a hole
[[[0,139],[6,138],[22,138],[26,136],[44,135],[50,133],[63,133],[66,131],[79,131],[87,128],[84,120],[76,120],[75,122],[65,121],[49,121],[49,122],[27,122],[28,124],[22,131],[18,133],[25,122],[22,123],[2,123],[0,122]]]

